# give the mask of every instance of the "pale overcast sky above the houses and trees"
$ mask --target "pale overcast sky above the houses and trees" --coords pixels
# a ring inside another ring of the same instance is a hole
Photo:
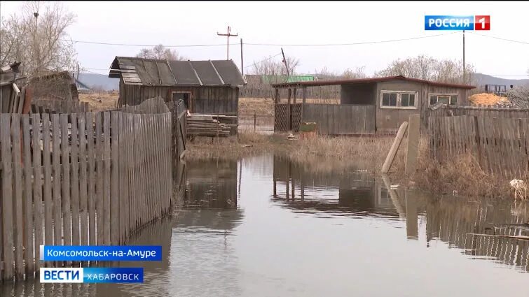
[[[528,78],[529,2],[345,2],[345,1],[71,1],[64,5],[77,15],[68,28],[75,41],[154,45],[221,44],[177,48],[190,59],[226,59],[228,25],[230,58],[240,67],[240,38],[245,67],[281,46],[300,60],[298,72],[311,73],[327,66],[331,71],[366,67],[366,73],[385,68],[394,59],[421,54],[437,59],[462,59],[462,33],[425,31],[425,15],[490,15],[490,31],[467,31],[466,60],[476,70],[502,78]],[[18,1],[1,1],[0,15],[16,13]],[[447,34],[452,33],[452,34]],[[472,34],[474,33],[474,34]],[[432,36],[411,41],[341,46],[289,46],[287,44],[360,43]],[[515,43],[483,34],[521,41]],[[76,43],[81,66],[90,71],[109,68],[115,56],[136,55],[141,47]],[[275,57],[280,61],[280,57]],[[245,68],[245,73],[250,68]]]

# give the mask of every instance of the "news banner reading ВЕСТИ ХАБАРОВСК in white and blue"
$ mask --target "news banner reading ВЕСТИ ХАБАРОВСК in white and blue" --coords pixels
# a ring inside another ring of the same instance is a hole
[[[41,268],[41,283],[143,282],[143,268]]]

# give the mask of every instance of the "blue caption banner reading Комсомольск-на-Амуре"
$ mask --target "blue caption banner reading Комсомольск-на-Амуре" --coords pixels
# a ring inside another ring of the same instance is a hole
[[[161,245],[41,245],[41,261],[162,261]]]

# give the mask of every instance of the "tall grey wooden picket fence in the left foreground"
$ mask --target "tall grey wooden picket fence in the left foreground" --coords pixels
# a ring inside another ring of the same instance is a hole
[[[69,265],[40,245],[121,245],[170,212],[171,114],[146,110],[164,109],[0,115],[0,280]]]

